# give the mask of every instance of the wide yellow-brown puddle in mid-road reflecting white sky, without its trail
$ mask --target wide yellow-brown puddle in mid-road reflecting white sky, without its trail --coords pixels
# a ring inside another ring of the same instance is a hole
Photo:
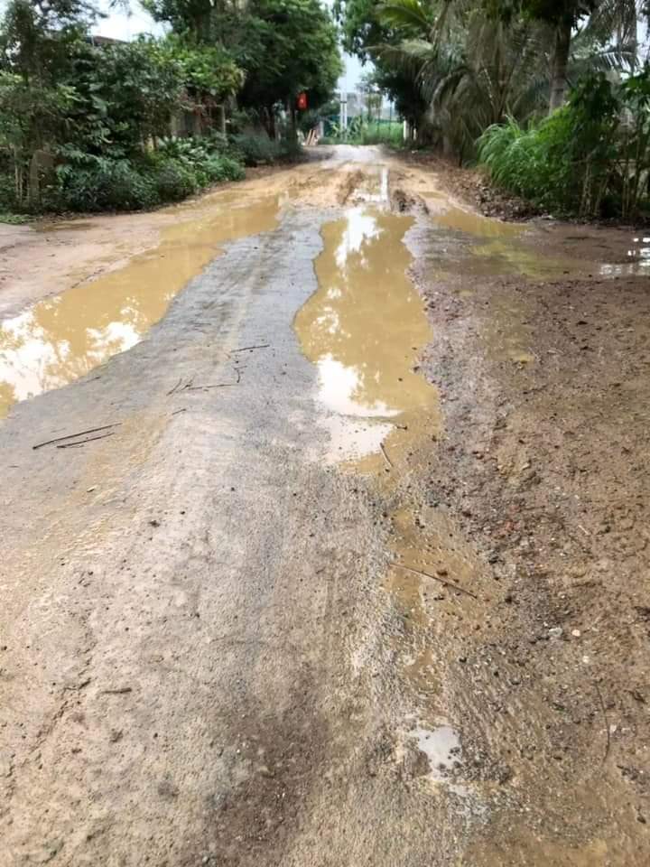
[[[413,219],[352,208],[322,229],[318,291],[295,318],[302,350],[319,371],[319,399],[336,432],[330,460],[376,453],[405,416],[429,413],[433,389],[413,371],[430,331],[406,275],[403,238]],[[391,424],[392,423],[392,424]]]

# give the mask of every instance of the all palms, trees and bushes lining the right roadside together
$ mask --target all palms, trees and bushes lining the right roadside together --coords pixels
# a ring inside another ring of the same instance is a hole
[[[337,0],[411,145],[480,163],[566,215],[650,211],[650,67],[640,0]]]

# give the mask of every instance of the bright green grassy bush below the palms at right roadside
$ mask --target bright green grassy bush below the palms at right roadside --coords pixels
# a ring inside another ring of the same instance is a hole
[[[650,69],[582,80],[566,106],[524,129],[490,126],[478,160],[493,182],[557,213],[634,219],[650,206]]]

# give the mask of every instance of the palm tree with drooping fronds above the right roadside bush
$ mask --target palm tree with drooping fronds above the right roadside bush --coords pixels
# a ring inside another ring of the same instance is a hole
[[[430,105],[429,123],[462,158],[487,126],[560,107],[570,75],[634,69],[644,0],[600,0],[588,16],[585,2],[597,0],[562,0],[543,15],[520,0],[515,16],[501,0],[388,0],[379,20],[403,38],[374,50],[412,72]]]

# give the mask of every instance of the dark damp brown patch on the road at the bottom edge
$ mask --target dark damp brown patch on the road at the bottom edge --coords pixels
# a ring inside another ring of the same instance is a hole
[[[309,815],[312,789],[334,758],[328,722],[313,705],[319,689],[305,671],[293,678],[288,706],[236,703],[228,728],[237,740],[210,744],[214,790],[204,795],[200,846],[179,863],[281,865]],[[238,716],[238,719],[237,719]]]

